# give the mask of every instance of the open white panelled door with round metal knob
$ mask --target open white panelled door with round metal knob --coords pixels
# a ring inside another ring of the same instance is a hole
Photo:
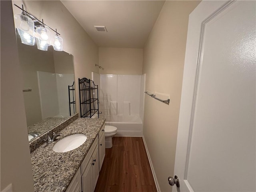
[[[190,14],[173,191],[256,191],[256,2]]]

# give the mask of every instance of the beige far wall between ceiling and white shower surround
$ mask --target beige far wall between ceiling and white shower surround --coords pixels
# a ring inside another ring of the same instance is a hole
[[[142,74],[143,49],[99,48],[100,74]]]

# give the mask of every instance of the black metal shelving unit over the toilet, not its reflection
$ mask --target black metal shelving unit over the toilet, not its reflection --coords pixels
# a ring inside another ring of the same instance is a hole
[[[78,82],[81,117],[92,118],[98,113],[99,118],[98,85],[87,78],[78,78]]]

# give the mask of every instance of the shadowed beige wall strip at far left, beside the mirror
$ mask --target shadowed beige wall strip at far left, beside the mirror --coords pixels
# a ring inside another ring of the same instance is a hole
[[[1,186],[34,191],[12,2],[1,4]],[[3,27],[4,26],[4,27]]]

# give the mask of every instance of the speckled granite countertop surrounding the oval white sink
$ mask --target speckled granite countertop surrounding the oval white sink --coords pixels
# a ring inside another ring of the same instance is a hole
[[[72,135],[85,134],[86,142],[80,147],[64,153],[52,150],[55,142],[43,144],[31,153],[35,192],[64,192],[92,146],[105,119],[78,118],[60,133],[58,140]]]

